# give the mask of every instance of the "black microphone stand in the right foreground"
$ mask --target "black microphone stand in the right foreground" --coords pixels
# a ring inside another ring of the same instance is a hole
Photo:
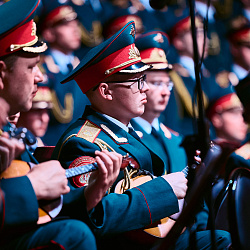
[[[210,161],[212,163],[208,164],[208,167],[205,172],[203,171],[200,175],[200,178],[198,180],[195,179],[194,176],[191,178],[194,179],[194,185],[191,188],[189,186],[189,194],[187,196],[188,203],[186,207],[184,207],[183,212],[180,214],[180,217],[177,219],[175,225],[170,230],[168,235],[163,239],[163,241],[159,242],[160,244],[156,245],[156,249],[169,249],[168,247],[173,246],[173,244],[178,239],[179,235],[181,234],[182,230],[190,225],[193,219],[192,216],[194,216],[194,210],[193,206],[199,206],[199,201],[204,198],[204,191],[208,190],[210,194],[208,194],[208,197],[211,196],[211,186],[213,179],[215,175],[218,172],[218,163],[222,159],[221,156],[223,155],[221,153],[220,148],[214,150],[217,151],[215,153],[216,155],[211,154],[211,148],[210,148],[210,137],[209,137],[209,127],[205,119],[204,115],[204,102],[203,102],[203,95],[202,95],[202,87],[201,87],[201,81],[200,81],[200,64],[199,64],[199,53],[198,53],[198,46],[197,46],[197,40],[196,40],[196,27],[195,27],[195,13],[194,13],[194,0],[188,0],[189,2],[189,8],[190,8],[190,19],[191,19],[191,32],[192,32],[192,38],[193,38],[193,53],[194,53],[194,65],[195,65],[195,77],[196,77],[196,91],[197,91],[197,106],[198,106],[198,118],[196,120],[197,122],[197,129],[198,134],[197,135],[191,135],[187,136],[182,146],[184,146],[186,153],[188,155],[192,155],[192,157],[189,157],[189,166],[193,165],[193,156],[195,155],[194,148],[190,147],[190,143],[192,143],[196,148],[201,150],[201,159],[203,160],[205,156],[209,155]],[[205,40],[204,40],[205,41]],[[196,114],[194,114],[195,116]],[[191,148],[191,149],[190,149]],[[190,151],[191,150],[191,151]],[[212,150],[213,151],[213,150]],[[207,158],[207,157],[206,157]],[[191,162],[192,159],[192,162]],[[190,168],[192,169],[192,168]],[[200,171],[201,172],[201,171]],[[193,175],[193,173],[191,173]],[[191,190],[190,190],[191,189]],[[209,201],[210,203],[210,201]],[[209,204],[208,204],[209,205]],[[209,208],[211,210],[211,207]],[[190,216],[191,215],[191,216]],[[211,217],[212,218],[212,217]],[[213,225],[213,222],[211,222]],[[195,242],[191,242],[192,246]],[[216,249],[215,246],[215,232],[214,228],[211,227],[211,244],[212,249]],[[155,248],[153,248],[155,249]]]

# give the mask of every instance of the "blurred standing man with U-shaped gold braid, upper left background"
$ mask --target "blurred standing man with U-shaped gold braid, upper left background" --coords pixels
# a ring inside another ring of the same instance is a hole
[[[81,107],[87,98],[77,84],[70,87],[60,81],[79,63],[74,51],[81,43],[79,21],[73,8],[50,1],[43,10],[40,19],[43,38],[48,42],[49,50],[42,58],[45,70],[45,83],[51,89],[53,107],[48,129],[43,137],[46,145],[57,143],[66,128],[81,115]]]

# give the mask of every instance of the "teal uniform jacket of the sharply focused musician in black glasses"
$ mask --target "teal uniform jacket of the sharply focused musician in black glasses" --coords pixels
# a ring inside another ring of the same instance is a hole
[[[162,160],[143,143],[88,106],[83,117],[72,124],[60,138],[53,158],[68,168],[83,156],[94,157],[95,150],[100,150],[97,144],[122,155],[129,153],[141,169],[151,173],[163,170]],[[118,179],[122,176],[121,171]],[[141,228],[176,211],[177,198],[172,188],[162,177],[158,177],[129,189],[124,194],[110,193],[105,196],[90,214],[90,227],[97,236],[106,236]]]

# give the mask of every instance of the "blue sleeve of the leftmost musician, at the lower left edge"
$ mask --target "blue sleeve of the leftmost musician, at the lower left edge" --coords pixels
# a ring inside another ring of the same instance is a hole
[[[36,224],[38,202],[27,176],[1,179],[1,229]]]

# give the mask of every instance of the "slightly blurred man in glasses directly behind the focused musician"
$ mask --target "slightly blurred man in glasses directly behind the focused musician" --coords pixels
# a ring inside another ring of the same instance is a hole
[[[169,50],[168,36],[162,31],[147,32],[139,36],[135,44],[142,61],[153,67],[146,71],[146,81],[150,89],[146,92],[145,111],[140,117],[132,119],[131,124],[143,143],[164,160],[165,173],[181,171],[187,165],[186,153],[180,146],[182,136],[159,121],[173,88],[169,76],[172,65],[166,58]]]

